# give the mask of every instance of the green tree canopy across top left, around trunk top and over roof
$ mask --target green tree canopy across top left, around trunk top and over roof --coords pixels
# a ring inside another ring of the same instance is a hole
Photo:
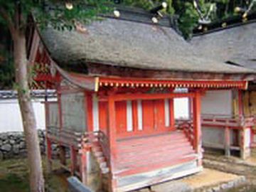
[[[107,13],[111,10],[112,5],[110,0],[73,0],[69,1],[73,4],[73,9],[67,9],[65,7],[67,2],[60,0],[0,0],[0,7],[14,23],[18,23],[18,28],[26,28],[29,24],[27,18],[33,13],[38,26],[45,27],[50,24],[59,30],[71,30],[76,23],[88,23],[97,19],[99,14]],[[17,12],[18,22],[15,21]],[[1,15],[0,22],[6,22]]]

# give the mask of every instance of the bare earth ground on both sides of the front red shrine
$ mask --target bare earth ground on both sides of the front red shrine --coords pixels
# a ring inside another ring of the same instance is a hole
[[[202,188],[203,186],[214,186],[218,183],[226,181],[232,181],[238,176],[246,176],[247,183],[245,186],[229,189],[228,192],[256,192],[256,164],[255,159],[249,159],[248,161],[241,161],[238,158],[227,158],[218,154],[204,154],[203,166],[206,168],[199,174],[182,178],[176,183],[166,182],[159,186],[152,186],[145,188],[142,191],[163,191],[163,185],[170,189],[175,187],[175,191],[180,191],[183,187],[186,188]],[[43,158],[43,168],[46,173],[46,164]],[[60,171],[58,166],[54,166],[53,174],[47,175],[46,187],[49,192],[65,192],[67,191],[68,184],[66,178],[68,173]],[[218,171],[215,171],[215,170]],[[223,173],[225,172],[225,173]],[[171,187],[170,187],[171,185]],[[186,188],[184,187],[186,186]],[[4,192],[26,192],[28,190],[28,166],[26,159],[11,159],[0,161],[0,191]],[[141,190],[139,190],[141,191]],[[166,191],[165,191],[166,192]]]

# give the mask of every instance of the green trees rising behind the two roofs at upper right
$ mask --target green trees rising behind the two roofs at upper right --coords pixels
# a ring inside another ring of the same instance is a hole
[[[164,1],[164,0],[163,0]],[[240,6],[247,8],[250,1],[247,0],[197,0],[199,9],[203,15],[206,15],[213,5],[213,11],[210,13],[209,18],[211,21],[217,21],[229,16],[234,16],[235,7]],[[124,0],[125,4],[144,8],[146,10],[161,4],[161,0]],[[163,12],[173,16],[178,16],[179,29],[185,38],[189,38],[194,28],[198,26],[199,15],[193,6],[193,0],[166,0],[169,5]],[[254,6],[254,10],[256,7]]]

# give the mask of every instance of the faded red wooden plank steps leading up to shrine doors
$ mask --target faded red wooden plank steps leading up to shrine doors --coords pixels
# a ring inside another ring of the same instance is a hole
[[[183,132],[174,131],[149,137],[123,139],[117,142],[114,175],[142,174],[197,158]]]

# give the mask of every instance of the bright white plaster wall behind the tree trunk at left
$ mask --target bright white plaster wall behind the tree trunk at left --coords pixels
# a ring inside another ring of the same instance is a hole
[[[36,128],[45,129],[45,107],[42,99],[33,100],[36,114]],[[21,132],[23,125],[18,100],[0,100],[0,132]]]

